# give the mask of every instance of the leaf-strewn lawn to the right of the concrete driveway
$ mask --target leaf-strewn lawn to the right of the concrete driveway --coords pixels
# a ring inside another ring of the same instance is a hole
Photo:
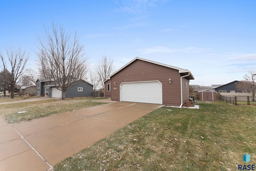
[[[54,166],[54,170],[237,170],[256,163],[256,106],[218,101],[161,107]],[[250,164],[248,163],[248,164]]]

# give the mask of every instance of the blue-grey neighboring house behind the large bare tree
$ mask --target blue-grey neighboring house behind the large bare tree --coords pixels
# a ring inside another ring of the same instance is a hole
[[[61,98],[62,91],[51,84],[49,79],[38,79],[36,81],[37,95]],[[66,97],[86,97],[92,96],[93,85],[80,79],[73,83],[73,86],[66,91]]]

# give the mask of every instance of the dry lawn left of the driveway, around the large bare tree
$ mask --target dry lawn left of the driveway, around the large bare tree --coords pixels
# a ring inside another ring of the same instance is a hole
[[[104,103],[92,101],[95,99],[96,98],[77,97],[77,98],[67,98],[66,101],[61,101],[60,99],[58,100],[46,99],[42,101],[5,104],[5,105],[0,105],[0,114],[9,123],[13,124],[13,123],[19,123],[23,121],[30,121],[32,119],[46,117],[49,115],[54,115],[54,114],[62,113],[66,111],[72,111],[72,110],[104,104]],[[97,98],[97,99],[100,99],[100,98]],[[26,111],[26,112],[17,113],[19,111]]]

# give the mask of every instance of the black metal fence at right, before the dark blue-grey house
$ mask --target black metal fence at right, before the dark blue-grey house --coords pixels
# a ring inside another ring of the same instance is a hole
[[[220,99],[222,101],[225,101],[226,103],[231,103],[234,105],[251,105],[251,104],[256,104],[255,100],[253,99],[252,96],[224,96],[220,95]]]

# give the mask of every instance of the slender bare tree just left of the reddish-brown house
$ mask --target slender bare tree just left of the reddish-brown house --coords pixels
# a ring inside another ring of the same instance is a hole
[[[111,58],[102,56],[98,64],[96,64],[96,71],[100,78],[102,88],[104,88],[104,81],[114,72],[114,64]]]

